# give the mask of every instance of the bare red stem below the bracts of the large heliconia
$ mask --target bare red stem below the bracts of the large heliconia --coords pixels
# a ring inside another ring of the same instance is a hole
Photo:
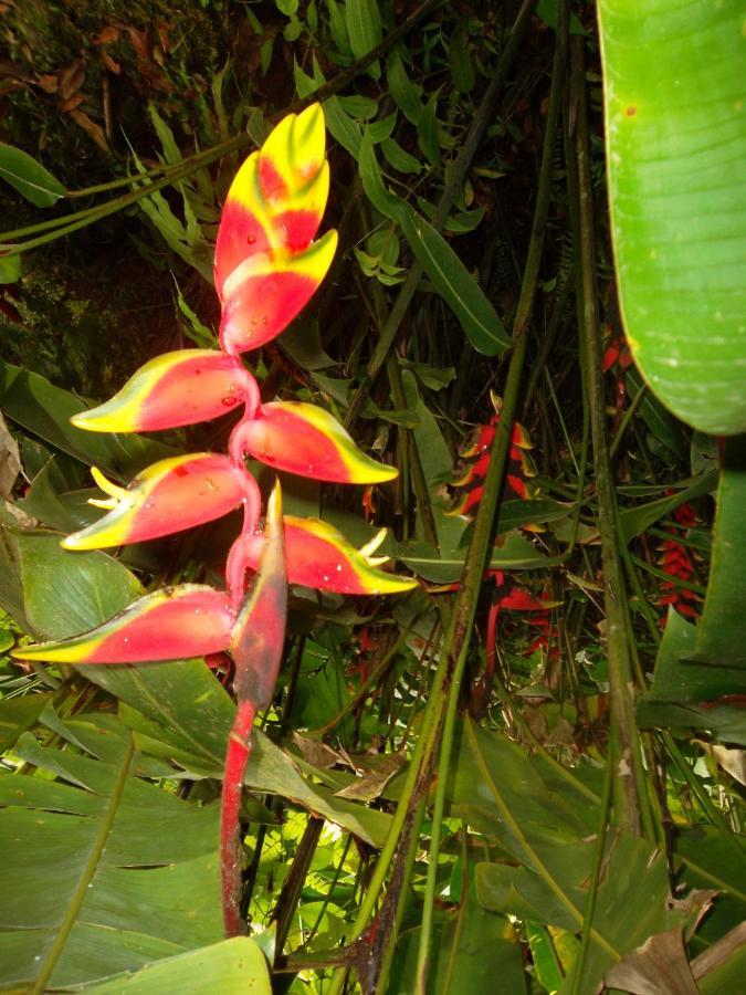
[[[225,936],[245,934],[241,919],[242,859],[239,839],[239,813],[243,774],[251,755],[251,730],[256,709],[253,701],[240,701],[225,752],[223,790],[220,802],[220,889]]]

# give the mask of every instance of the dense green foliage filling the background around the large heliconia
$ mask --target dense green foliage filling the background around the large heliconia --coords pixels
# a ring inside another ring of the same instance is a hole
[[[739,14],[649,8],[8,4],[3,991],[738,991]],[[318,405],[399,473],[281,473],[285,513],[364,551],[386,528],[417,586],[291,587],[225,940],[231,656],[24,648],[225,586],[233,515],[113,555],[60,540],[96,531],[102,473],[225,451],[239,416],[70,419],[217,347],[231,179],[315,102],[339,248],[251,368],[266,410]]]

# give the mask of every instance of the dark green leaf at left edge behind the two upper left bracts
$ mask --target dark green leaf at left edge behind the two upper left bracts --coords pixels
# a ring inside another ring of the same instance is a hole
[[[88,465],[119,480],[180,450],[144,436],[86,432],[70,423],[86,406],[39,374],[0,360],[0,407],[8,418]]]

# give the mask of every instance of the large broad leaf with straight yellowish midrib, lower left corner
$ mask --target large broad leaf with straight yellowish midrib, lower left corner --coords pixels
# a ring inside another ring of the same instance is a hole
[[[18,755],[46,776],[0,776],[6,984],[86,984],[222,938],[218,807],[135,777],[119,731],[107,762],[24,733]]]

